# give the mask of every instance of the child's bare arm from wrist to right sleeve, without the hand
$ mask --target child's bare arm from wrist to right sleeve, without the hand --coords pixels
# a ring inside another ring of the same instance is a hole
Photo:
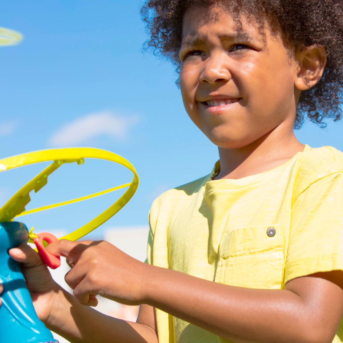
[[[146,302],[233,342],[332,342],[343,315],[343,273],[253,289],[150,266]]]

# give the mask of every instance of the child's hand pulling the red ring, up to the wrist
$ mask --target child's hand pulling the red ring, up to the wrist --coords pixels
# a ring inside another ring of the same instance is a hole
[[[61,239],[46,249],[53,255],[67,258],[72,269],[64,279],[81,304],[96,306],[97,294],[126,305],[143,303],[144,280],[150,266],[114,245],[106,241]]]

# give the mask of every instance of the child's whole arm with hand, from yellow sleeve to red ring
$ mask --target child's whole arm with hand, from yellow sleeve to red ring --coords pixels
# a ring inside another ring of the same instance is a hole
[[[143,303],[234,342],[331,342],[343,314],[341,270],[254,289],[143,263],[106,241],[58,240],[46,249],[75,262],[65,280],[81,304],[91,294]]]

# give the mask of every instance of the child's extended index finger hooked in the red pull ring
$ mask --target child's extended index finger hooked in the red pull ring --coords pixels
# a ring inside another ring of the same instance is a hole
[[[77,262],[82,252],[92,243],[93,241],[73,242],[60,239],[46,246],[46,250],[52,255],[65,256]]]

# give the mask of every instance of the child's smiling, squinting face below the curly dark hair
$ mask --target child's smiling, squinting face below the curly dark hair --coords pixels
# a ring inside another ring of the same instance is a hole
[[[296,64],[289,64],[281,38],[271,37],[265,26],[264,47],[257,25],[244,16],[241,21],[253,39],[231,40],[236,22],[217,5],[190,8],[182,23],[182,99],[191,120],[224,149],[247,146],[275,128],[293,134],[301,93],[294,84]],[[230,104],[229,98],[240,99]]]

